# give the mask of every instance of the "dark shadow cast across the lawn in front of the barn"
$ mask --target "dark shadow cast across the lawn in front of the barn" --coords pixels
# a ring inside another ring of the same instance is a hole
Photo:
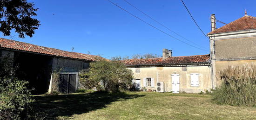
[[[145,95],[128,95],[126,93],[94,92],[88,94],[34,96],[34,108],[47,114],[46,119],[58,116],[71,116],[107,107],[114,101],[124,101]]]

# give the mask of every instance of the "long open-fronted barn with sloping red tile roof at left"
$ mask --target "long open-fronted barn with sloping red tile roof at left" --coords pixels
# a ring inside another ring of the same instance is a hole
[[[73,93],[81,86],[79,71],[104,58],[0,38],[0,63],[5,59],[18,66],[18,79],[29,81],[32,94],[38,95],[51,90],[54,72],[60,75],[59,91]]]

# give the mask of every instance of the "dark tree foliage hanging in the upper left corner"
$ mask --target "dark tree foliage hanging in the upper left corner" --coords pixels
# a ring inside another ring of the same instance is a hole
[[[27,0],[0,0],[0,32],[9,36],[14,29],[20,38],[32,37],[40,25],[38,19],[32,18],[37,10]]]

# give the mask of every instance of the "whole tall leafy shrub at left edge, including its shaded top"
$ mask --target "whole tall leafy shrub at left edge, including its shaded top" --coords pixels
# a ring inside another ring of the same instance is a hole
[[[0,64],[0,120],[35,119],[28,82],[15,77],[17,67],[8,57]]]

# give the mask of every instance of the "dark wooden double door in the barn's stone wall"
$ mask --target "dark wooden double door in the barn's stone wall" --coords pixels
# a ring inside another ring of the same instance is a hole
[[[60,74],[59,91],[63,94],[75,92],[76,75]]]

